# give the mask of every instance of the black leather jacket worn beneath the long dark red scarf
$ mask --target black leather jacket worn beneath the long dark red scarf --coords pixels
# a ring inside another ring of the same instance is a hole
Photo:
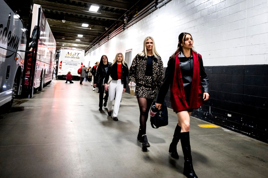
[[[193,78],[193,58],[192,56],[190,58],[187,58],[183,55],[181,52],[179,54],[180,59],[180,68],[181,68],[181,75],[183,79],[183,86],[185,91],[189,91],[191,89],[192,85],[192,78]],[[171,59],[171,57],[170,57]],[[202,56],[199,58],[199,65],[200,65],[200,77],[201,77],[201,87],[202,92],[208,92],[209,93],[209,79],[207,78],[207,74],[205,72],[204,66],[203,66],[203,60]],[[168,63],[168,67],[166,68],[165,72],[165,78],[163,80],[163,83],[160,87],[158,97],[157,97],[157,103],[163,103],[166,93],[168,92],[170,84],[173,82],[174,77],[174,70],[175,65],[170,60]]]

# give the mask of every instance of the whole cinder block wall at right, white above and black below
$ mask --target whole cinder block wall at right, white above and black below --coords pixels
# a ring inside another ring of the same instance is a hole
[[[155,39],[164,68],[178,35],[192,34],[210,80],[210,100],[193,116],[268,142],[268,0],[173,0],[86,56],[142,51]],[[169,92],[166,96],[169,103]]]

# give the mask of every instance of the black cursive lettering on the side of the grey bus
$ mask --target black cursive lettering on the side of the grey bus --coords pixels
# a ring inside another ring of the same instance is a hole
[[[9,13],[8,24],[5,28],[3,24],[0,24],[0,41],[17,51],[20,38],[9,30],[10,17],[11,13]]]

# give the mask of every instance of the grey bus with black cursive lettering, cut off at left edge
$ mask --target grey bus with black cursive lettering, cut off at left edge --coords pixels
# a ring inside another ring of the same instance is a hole
[[[21,93],[26,34],[19,16],[0,0],[0,106]]]

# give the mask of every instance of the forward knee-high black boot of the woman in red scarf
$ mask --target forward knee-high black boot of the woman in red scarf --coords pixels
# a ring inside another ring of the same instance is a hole
[[[183,174],[188,178],[198,178],[193,170],[189,132],[181,132],[181,147],[184,155]]]

